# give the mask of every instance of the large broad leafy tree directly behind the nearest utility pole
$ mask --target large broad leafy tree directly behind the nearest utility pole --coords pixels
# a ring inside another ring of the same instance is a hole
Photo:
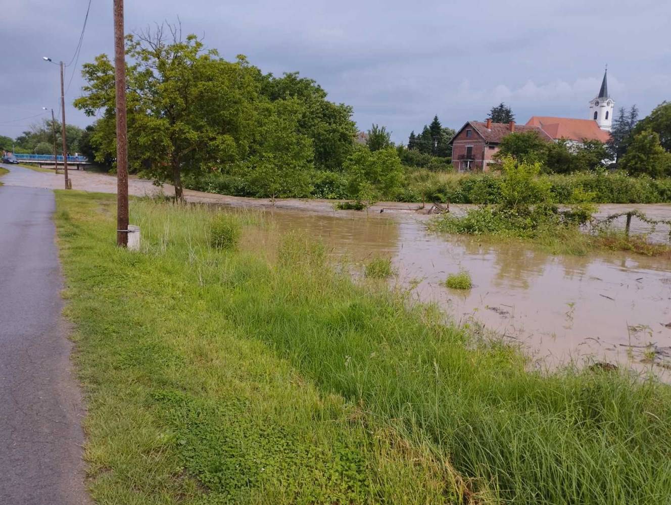
[[[183,199],[183,172],[211,171],[242,160],[254,135],[256,71],[244,56],[236,62],[205,50],[177,27],[126,38],[129,163],[156,182],[169,179]],[[103,110],[91,143],[96,159],[114,156],[114,68],[107,55],[84,64],[84,96],[75,107],[93,116]]]

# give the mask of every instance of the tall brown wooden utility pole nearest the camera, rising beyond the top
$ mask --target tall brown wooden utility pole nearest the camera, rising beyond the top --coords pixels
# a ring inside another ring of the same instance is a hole
[[[125,103],[123,0],[114,0],[114,84],[117,115],[117,245],[128,246],[128,137]]]

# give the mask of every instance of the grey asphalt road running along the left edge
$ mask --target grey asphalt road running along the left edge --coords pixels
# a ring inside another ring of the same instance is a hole
[[[89,503],[54,206],[51,190],[0,186],[1,505]]]

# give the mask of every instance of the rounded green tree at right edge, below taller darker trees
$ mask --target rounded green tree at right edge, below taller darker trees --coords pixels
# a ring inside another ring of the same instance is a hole
[[[671,175],[671,153],[664,150],[656,131],[646,129],[634,135],[619,166],[633,176]]]

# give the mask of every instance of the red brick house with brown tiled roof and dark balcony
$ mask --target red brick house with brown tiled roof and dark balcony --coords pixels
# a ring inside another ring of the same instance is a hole
[[[492,157],[499,150],[499,144],[506,135],[535,131],[541,138],[552,142],[552,137],[536,125],[516,125],[486,121],[468,121],[450,140],[452,145],[452,166],[459,172],[478,170],[486,172]]]

